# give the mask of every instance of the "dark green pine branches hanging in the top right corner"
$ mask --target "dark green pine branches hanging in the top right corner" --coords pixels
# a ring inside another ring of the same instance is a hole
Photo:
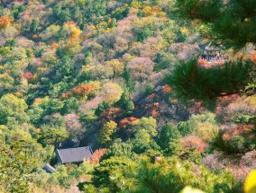
[[[247,42],[256,43],[256,2],[252,0],[200,1],[176,0],[178,13],[182,17],[199,19],[208,24],[211,37],[234,46],[244,46]]]

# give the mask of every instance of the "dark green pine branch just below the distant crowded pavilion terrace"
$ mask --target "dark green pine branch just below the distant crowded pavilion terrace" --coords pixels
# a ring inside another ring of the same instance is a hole
[[[223,92],[233,94],[245,88],[252,66],[250,61],[240,60],[206,68],[193,58],[177,64],[167,81],[180,99],[214,101]]]

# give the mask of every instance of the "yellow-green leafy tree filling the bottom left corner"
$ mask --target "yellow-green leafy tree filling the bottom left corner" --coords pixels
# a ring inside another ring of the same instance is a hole
[[[1,130],[3,132],[3,130]],[[29,192],[30,183],[34,179],[34,171],[38,171],[43,160],[43,149],[35,139],[23,130],[1,134],[12,140],[0,143],[0,187],[2,192]]]

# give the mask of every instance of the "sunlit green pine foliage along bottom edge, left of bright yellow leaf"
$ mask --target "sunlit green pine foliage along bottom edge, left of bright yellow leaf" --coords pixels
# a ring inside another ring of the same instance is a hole
[[[198,176],[192,168],[197,168],[201,175]],[[188,185],[209,193],[242,192],[242,183],[235,180],[230,173],[222,172],[216,175],[202,165],[181,162],[175,157],[167,160],[163,158],[160,163],[152,163],[148,158],[143,159],[134,178],[138,181],[134,192],[176,193]]]

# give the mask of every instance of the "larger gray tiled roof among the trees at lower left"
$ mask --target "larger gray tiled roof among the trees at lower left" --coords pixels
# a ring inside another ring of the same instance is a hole
[[[58,162],[83,162],[84,159],[90,158],[93,154],[90,146],[69,148],[69,149],[57,149],[56,150]]]

